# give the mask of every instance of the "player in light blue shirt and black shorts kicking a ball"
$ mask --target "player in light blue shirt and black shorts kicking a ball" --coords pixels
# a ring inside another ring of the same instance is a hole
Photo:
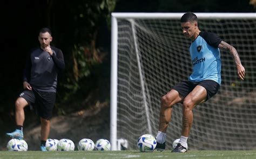
[[[175,85],[161,97],[159,129],[156,136],[157,150],[165,149],[166,129],[171,121],[172,107],[183,104],[183,119],[180,141],[173,153],[185,153],[186,143],[193,121],[194,106],[206,102],[214,96],[221,83],[220,49],[227,50],[233,56],[239,78],[244,80],[245,68],[242,66],[237,50],[221,40],[218,35],[200,31],[197,16],[192,12],[185,13],[181,19],[181,30],[191,40],[190,55],[193,73],[188,80]]]

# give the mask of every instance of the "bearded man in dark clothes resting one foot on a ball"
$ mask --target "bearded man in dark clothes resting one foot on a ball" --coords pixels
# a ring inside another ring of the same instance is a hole
[[[32,49],[23,74],[24,91],[15,102],[16,130],[6,133],[11,138],[23,139],[24,107],[34,107],[41,119],[41,150],[50,133],[50,118],[56,99],[57,75],[65,68],[62,50],[50,46],[52,41],[49,28],[39,31],[40,47]]]

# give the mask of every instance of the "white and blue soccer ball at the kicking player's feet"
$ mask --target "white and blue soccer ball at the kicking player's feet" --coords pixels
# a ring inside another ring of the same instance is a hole
[[[138,148],[141,152],[152,152],[157,146],[157,140],[150,134],[144,134],[138,139]]]

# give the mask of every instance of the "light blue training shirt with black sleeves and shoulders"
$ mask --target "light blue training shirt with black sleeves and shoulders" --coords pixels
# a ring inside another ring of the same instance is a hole
[[[222,40],[218,35],[209,32],[200,32],[197,39],[192,41],[190,55],[193,64],[193,73],[189,81],[200,82],[211,79],[221,83],[221,59],[218,48]]]

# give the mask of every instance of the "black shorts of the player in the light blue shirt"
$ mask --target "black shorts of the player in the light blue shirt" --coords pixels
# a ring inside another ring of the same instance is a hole
[[[175,85],[172,89],[177,90],[179,92],[179,94],[185,98],[197,85],[201,85],[206,89],[206,91],[207,91],[206,100],[208,100],[212,96],[214,96],[220,88],[219,83],[217,83],[213,80],[210,80],[210,79],[206,79],[206,80],[200,81],[200,82],[191,82],[188,80],[183,81],[183,82]]]

